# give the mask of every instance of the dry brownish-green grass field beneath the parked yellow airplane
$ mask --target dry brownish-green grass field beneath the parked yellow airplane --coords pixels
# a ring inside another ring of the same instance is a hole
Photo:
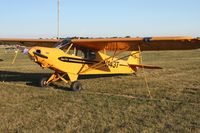
[[[51,71],[0,49],[0,132],[200,132],[200,51],[144,52],[152,98],[142,71],[81,79],[84,90],[58,82],[40,88]]]

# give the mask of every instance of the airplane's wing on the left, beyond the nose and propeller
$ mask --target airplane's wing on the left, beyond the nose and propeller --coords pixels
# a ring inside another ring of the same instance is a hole
[[[61,39],[20,39],[20,38],[0,38],[0,45],[5,44],[7,42],[16,43],[17,45],[23,46],[44,46],[44,47],[52,47],[57,42],[60,42]]]

